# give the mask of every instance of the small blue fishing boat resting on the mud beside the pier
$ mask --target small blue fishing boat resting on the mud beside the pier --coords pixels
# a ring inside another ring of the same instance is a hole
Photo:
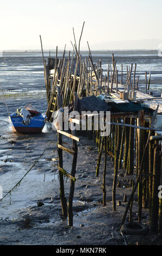
[[[45,126],[47,117],[28,104],[24,108],[18,108],[16,113],[10,115],[11,126],[14,132],[41,132]]]

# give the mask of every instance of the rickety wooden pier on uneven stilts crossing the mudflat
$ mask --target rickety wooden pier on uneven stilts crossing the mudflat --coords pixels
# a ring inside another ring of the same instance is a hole
[[[89,44],[88,44],[89,47]],[[162,98],[151,95],[149,88],[151,83],[151,72],[147,83],[145,76],[145,93],[141,92],[139,85],[139,76],[136,76],[136,64],[127,66],[127,75],[123,75],[123,65],[121,70],[116,69],[116,60],[114,54],[112,60],[108,62],[108,70],[103,75],[102,62],[94,63],[89,47],[89,56],[83,60],[78,54],[77,46],[74,44],[74,52],[68,53],[65,58],[58,59],[57,51],[55,57],[49,57],[46,62],[43,59],[45,70],[45,84],[47,91],[47,117],[52,121],[52,113],[59,106],[68,106],[71,111],[77,109],[75,105],[75,95],[78,99],[90,97],[92,95],[101,96],[109,104],[115,103],[119,111],[111,111],[110,115],[110,134],[102,137],[101,130],[88,130],[88,121],[86,121],[86,131],[77,131],[77,135],[72,135],[66,131],[58,130],[58,153],[59,153],[59,174],[61,205],[63,215],[67,217],[66,199],[64,198],[64,179],[61,173],[63,169],[63,157],[61,151],[76,154],[77,141],[80,136],[86,136],[89,139],[95,139],[98,147],[98,160],[96,176],[98,176],[101,166],[102,154],[104,152],[103,169],[103,205],[106,204],[106,172],[107,156],[111,157],[114,163],[114,181],[112,184],[112,203],[113,210],[116,210],[116,186],[117,174],[119,168],[126,170],[126,175],[135,174],[136,178],[132,182],[132,193],[128,199],[126,211],[121,220],[121,226],[125,222],[128,211],[129,221],[132,221],[133,196],[138,188],[138,220],[141,222],[142,209],[149,209],[149,224],[152,231],[162,234],[162,203],[159,197],[159,186],[162,185],[161,174],[161,142],[162,142]],[[132,74],[133,73],[133,74]],[[124,79],[126,84],[123,84]],[[59,88],[59,97],[58,97]],[[59,103],[60,102],[60,103]],[[141,108],[131,110],[131,103],[141,106]],[[124,108],[124,104],[128,106]],[[148,110],[148,111],[147,111]],[[69,121],[75,123],[82,120],[82,114],[79,119],[73,118]],[[92,124],[94,117],[92,117]],[[105,123],[107,120],[105,120]],[[73,149],[66,149],[61,144],[61,136],[65,135],[72,138]],[[66,172],[64,172],[66,174]],[[73,163],[71,174],[67,174],[71,180],[70,197],[68,202],[68,224],[72,225],[72,198],[74,192],[74,176],[76,173],[76,162]]]

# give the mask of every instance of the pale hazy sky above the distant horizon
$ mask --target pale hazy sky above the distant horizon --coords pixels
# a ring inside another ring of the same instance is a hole
[[[81,50],[109,41],[161,39],[161,0],[6,0],[1,1],[0,50],[71,48],[73,32]],[[134,48],[136,44],[134,42]],[[119,47],[120,48],[120,47]]]

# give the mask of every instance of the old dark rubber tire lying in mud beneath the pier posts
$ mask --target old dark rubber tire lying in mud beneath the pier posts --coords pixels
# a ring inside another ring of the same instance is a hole
[[[131,225],[135,225],[136,227],[139,227],[139,229],[130,228]],[[147,225],[144,225],[139,222],[126,222],[122,225],[121,230],[123,231],[123,234],[126,234],[126,235],[140,235],[140,234],[145,235],[148,233],[149,228]]]

